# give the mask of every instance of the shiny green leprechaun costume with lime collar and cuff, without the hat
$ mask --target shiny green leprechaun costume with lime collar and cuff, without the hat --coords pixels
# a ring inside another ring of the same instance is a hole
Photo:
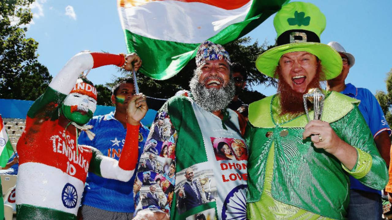
[[[250,104],[245,133],[249,219],[345,219],[348,175],[374,189],[385,187],[388,170],[358,104],[348,96],[325,92],[321,117],[356,148],[358,159],[352,170],[325,150],[314,148],[310,138],[302,140],[306,115],[279,115],[278,95]]]

